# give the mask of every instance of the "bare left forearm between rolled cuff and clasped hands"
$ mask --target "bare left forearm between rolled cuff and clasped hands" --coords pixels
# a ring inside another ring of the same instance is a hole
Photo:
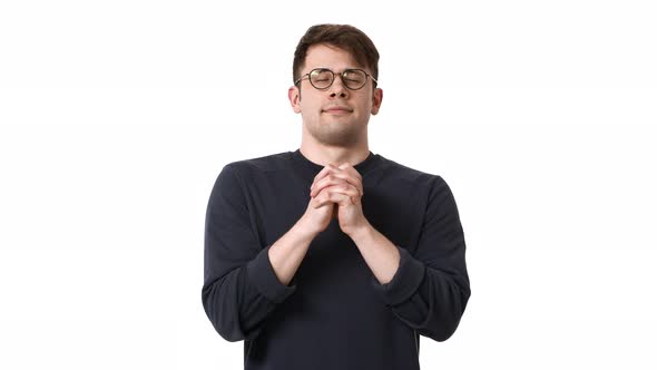
[[[272,244],[268,252],[269,261],[282,284],[290,284],[316,235],[317,233],[305,226],[304,220],[301,218],[287,233]]]

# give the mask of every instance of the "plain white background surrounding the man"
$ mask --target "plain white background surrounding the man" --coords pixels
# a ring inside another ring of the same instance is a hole
[[[298,147],[294,48],[340,22],[382,56],[372,152],[443,176],[465,230],[472,298],[422,368],[655,369],[655,19],[627,0],[2,1],[0,368],[242,369],[200,303],[207,198],[225,164]]]

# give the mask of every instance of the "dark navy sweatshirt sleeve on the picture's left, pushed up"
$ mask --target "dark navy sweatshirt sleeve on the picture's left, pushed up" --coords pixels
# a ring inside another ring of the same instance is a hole
[[[212,191],[205,222],[203,308],[228,341],[253,340],[267,315],[295,285],[282,284],[261,245],[236,168],[224,167]]]

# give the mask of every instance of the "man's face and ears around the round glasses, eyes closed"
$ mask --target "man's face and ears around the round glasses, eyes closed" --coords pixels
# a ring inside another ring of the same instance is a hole
[[[371,78],[361,89],[351,90],[337,75],[352,68],[364,69],[369,75],[371,70],[357,65],[349,52],[327,45],[308,48],[301,76],[315,68],[334,71],[333,85],[320,90],[305,77],[288,91],[294,111],[302,115],[304,135],[311,135],[318,144],[341,147],[366,139],[370,115],[379,113],[383,93],[372,88]]]

